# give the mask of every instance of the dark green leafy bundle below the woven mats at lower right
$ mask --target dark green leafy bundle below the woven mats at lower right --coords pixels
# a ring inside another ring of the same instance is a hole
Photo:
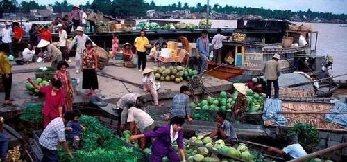
[[[316,127],[308,123],[296,123],[289,134],[297,134],[299,142],[305,145],[316,146],[321,141]]]

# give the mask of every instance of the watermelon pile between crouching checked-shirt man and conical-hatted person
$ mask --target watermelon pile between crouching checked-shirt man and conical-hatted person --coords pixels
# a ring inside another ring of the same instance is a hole
[[[190,103],[191,109],[203,109],[210,111],[231,111],[232,106],[235,104],[237,94],[232,94],[230,98],[226,91],[221,91],[218,98],[208,96],[206,100],[202,100],[200,103]]]

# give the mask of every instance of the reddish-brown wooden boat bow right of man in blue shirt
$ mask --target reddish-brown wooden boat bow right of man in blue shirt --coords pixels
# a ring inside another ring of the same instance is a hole
[[[214,62],[209,62],[208,72],[206,73],[221,80],[230,80],[231,78],[242,75],[244,73],[244,69],[237,66],[226,64],[218,65],[214,64]]]

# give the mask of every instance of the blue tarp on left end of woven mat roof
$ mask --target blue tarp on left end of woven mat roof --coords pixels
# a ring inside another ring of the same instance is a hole
[[[276,113],[282,112],[282,100],[267,99],[263,111],[265,112],[263,115],[264,120],[271,120],[280,126],[287,125],[287,119],[285,116]]]

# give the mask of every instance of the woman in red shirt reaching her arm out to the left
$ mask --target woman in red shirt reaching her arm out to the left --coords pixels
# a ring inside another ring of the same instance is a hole
[[[44,127],[46,127],[51,120],[62,117],[62,107],[65,105],[64,92],[61,90],[62,82],[60,80],[52,80],[51,86],[39,86],[31,78],[27,79],[28,82],[33,84],[35,89],[39,89],[44,93],[44,108],[42,114],[44,115]]]

